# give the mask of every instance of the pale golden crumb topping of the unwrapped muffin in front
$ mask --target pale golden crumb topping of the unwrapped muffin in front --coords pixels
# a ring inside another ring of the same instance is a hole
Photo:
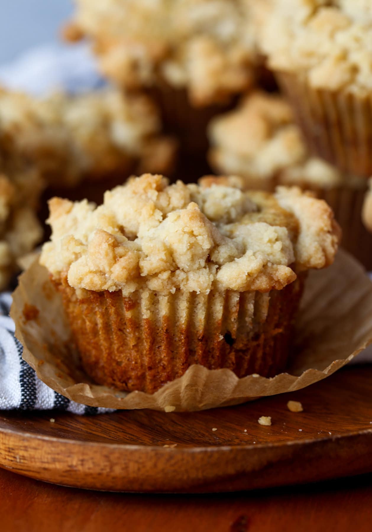
[[[332,263],[338,243],[330,207],[295,187],[271,195],[144,174],[99,207],[53,198],[49,209],[40,263],[74,288],[124,296],[281,289]]]

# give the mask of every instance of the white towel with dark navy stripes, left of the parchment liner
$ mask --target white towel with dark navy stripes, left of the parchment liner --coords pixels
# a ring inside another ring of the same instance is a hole
[[[0,410],[65,410],[74,414],[113,412],[70,401],[37,378],[22,359],[22,345],[14,336],[14,322],[9,317],[12,297],[0,294]]]

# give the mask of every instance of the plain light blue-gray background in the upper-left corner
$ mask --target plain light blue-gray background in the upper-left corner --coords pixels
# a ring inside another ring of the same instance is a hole
[[[72,0],[0,0],[0,64],[57,41],[72,11]]]

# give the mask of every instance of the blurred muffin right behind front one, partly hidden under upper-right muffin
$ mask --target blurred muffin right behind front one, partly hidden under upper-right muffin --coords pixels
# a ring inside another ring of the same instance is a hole
[[[212,169],[242,177],[243,189],[297,185],[323,198],[341,225],[342,246],[372,268],[372,236],[361,221],[367,180],[311,156],[283,97],[247,95],[234,111],[211,121],[209,138]]]

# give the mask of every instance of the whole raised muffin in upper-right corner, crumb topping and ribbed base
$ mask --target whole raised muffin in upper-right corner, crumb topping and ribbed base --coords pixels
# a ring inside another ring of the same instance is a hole
[[[262,51],[311,150],[341,171],[372,173],[372,3],[277,0]]]

